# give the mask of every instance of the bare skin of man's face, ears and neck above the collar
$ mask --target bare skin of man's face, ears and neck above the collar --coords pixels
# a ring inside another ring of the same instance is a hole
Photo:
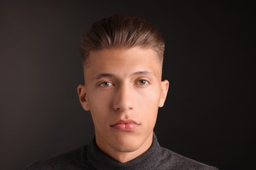
[[[154,50],[93,51],[84,73],[85,84],[77,92],[83,109],[91,112],[97,146],[122,163],[137,158],[152,144],[158,108],[169,87],[167,80],[161,81]],[[133,122],[119,124],[127,120]]]

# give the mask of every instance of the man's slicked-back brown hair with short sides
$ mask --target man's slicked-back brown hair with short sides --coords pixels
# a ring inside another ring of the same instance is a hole
[[[81,39],[81,58],[87,65],[91,51],[108,48],[151,48],[163,63],[165,42],[161,33],[138,16],[114,14],[95,22]]]

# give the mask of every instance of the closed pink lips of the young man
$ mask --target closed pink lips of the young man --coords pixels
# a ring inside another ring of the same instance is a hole
[[[118,131],[133,131],[139,127],[140,124],[134,120],[117,120],[110,127]]]

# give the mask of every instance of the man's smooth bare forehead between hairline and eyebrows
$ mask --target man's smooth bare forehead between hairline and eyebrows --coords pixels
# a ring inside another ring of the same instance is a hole
[[[138,71],[148,71],[161,76],[160,59],[151,48],[96,50],[90,53],[88,63],[84,65],[86,76],[104,73],[124,76]]]

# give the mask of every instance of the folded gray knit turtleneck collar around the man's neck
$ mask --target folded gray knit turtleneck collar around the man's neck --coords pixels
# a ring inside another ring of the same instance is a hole
[[[161,146],[158,143],[156,134],[154,133],[153,143],[150,148],[148,148],[148,150],[142,155],[131,161],[121,163],[104,154],[104,152],[102,152],[96,145],[95,138],[88,146],[87,158],[89,163],[95,167],[95,169],[154,169],[154,166],[158,164],[160,152]]]

